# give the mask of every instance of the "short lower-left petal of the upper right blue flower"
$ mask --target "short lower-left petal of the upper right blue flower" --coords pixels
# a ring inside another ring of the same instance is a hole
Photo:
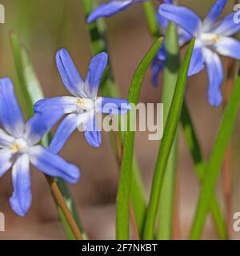
[[[205,59],[202,54],[202,46],[199,46],[198,44],[196,44],[194,46],[194,51],[190,61],[188,76],[190,77],[202,71],[204,69],[204,62],[205,62]]]

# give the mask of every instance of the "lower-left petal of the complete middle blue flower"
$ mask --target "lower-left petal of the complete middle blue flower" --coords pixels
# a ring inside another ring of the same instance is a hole
[[[57,154],[62,147],[65,145],[70,135],[77,129],[78,114],[68,114],[66,118],[63,119],[54,138],[50,143],[50,151]]]

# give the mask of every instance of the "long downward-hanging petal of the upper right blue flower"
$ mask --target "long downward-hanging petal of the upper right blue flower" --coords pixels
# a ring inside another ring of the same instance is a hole
[[[211,106],[219,106],[222,103],[220,87],[223,82],[223,68],[218,54],[204,48],[206,69],[209,78],[208,101]]]

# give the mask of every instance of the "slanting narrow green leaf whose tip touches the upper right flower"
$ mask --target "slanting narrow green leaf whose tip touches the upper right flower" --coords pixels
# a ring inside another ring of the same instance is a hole
[[[158,158],[154,170],[154,178],[151,186],[150,202],[146,210],[146,222],[144,226],[144,239],[154,238],[154,227],[156,217],[158,214],[160,191],[162,189],[162,181],[164,178],[166,164],[169,158],[170,150],[172,148],[176,131],[178,129],[178,122],[182,112],[182,104],[185,96],[187,71],[190,65],[190,59],[194,50],[194,42],[192,39],[186,56],[182,62],[181,69],[178,75],[176,89],[174,91],[174,98],[170,107],[170,112],[166,121],[165,130],[163,133],[162,143],[158,152]]]

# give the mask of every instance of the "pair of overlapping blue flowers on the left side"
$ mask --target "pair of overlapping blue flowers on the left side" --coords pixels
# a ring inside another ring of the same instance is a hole
[[[56,61],[62,82],[73,96],[42,99],[34,105],[36,114],[26,123],[12,82],[9,78],[0,79],[0,124],[4,129],[0,129],[0,177],[12,167],[14,193],[10,206],[20,216],[28,212],[32,201],[30,163],[44,174],[70,183],[78,182],[78,167],[57,154],[70,134],[82,124],[86,141],[90,146],[98,147],[102,139],[95,113],[122,114],[129,110],[124,99],[97,98],[98,86],[107,65],[106,53],[91,60],[85,82],[66,50],[58,51]],[[106,104],[110,107],[106,108]],[[43,135],[64,114],[67,116],[58,127],[50,148],[39,145]]]

